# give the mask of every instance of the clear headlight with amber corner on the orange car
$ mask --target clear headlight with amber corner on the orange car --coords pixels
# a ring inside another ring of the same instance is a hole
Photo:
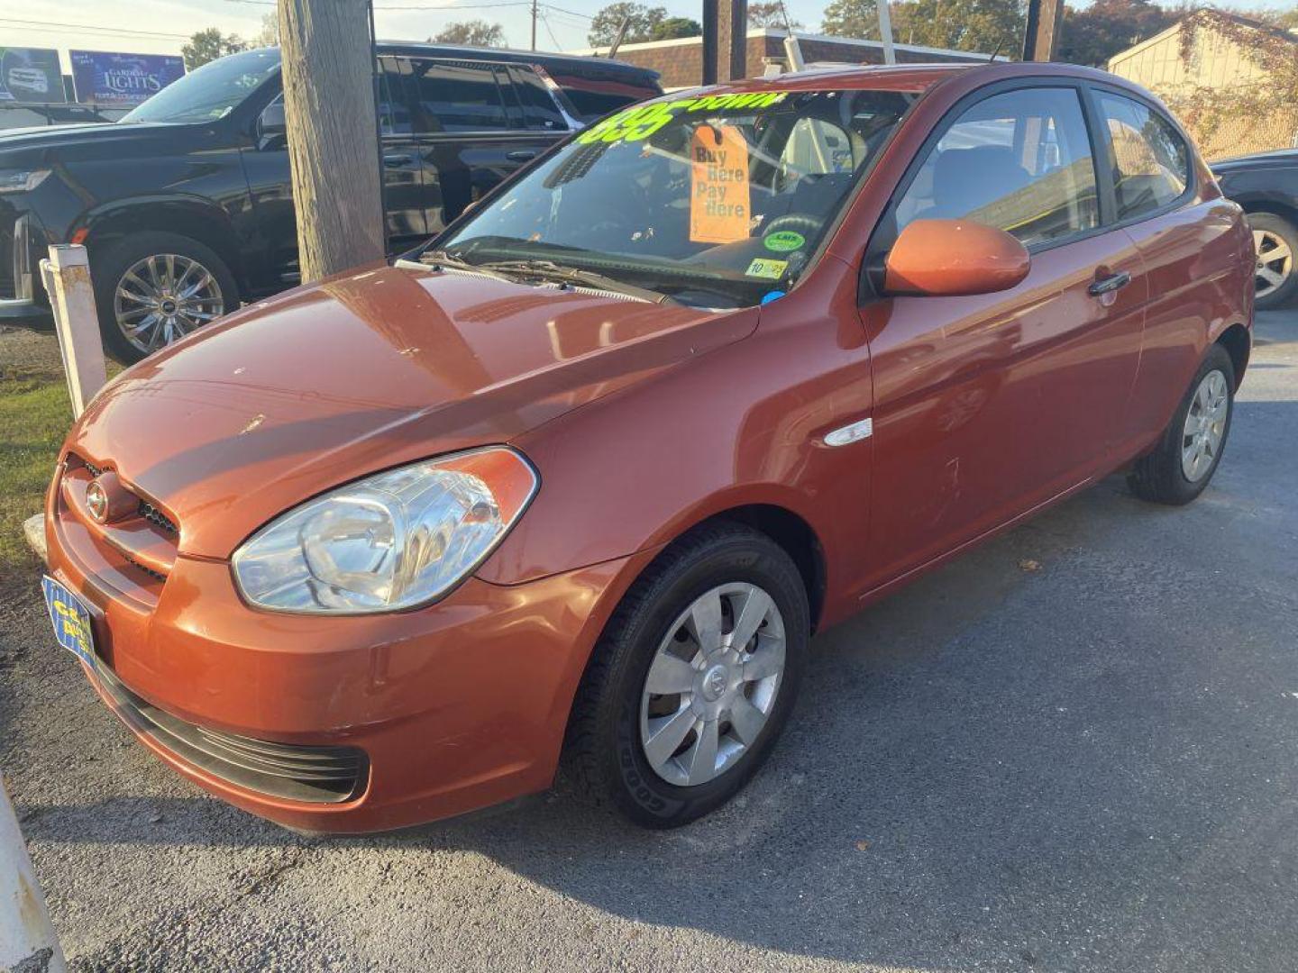
[[[244,598],[275,611],[427,605],[496,549],[539,484],[506,446],[389,470],[273,520],[235,551],[235,580]]]

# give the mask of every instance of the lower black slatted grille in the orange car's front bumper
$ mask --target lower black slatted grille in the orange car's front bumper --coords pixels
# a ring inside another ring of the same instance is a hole
[[[370,773],[363,750],[273,743],[199,727],[127,689],[103,662],[95,667],[118,715],[166,751],[223,781],[286,800],[336,804],[358,795]]]

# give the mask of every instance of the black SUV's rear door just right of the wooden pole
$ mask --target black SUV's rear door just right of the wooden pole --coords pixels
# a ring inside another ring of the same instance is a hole
[[[524,113],[514,86],[522,66],[413,57],[409,69],[430,234],[563,135]]]

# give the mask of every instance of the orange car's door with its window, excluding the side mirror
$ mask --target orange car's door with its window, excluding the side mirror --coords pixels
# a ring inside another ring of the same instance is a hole
[[[1144,276],[1103,227],[1084,91],[1001,84],[949,113],[870,244],[915,219],[977,221],[1032,254],[1027,279],[972,297],[864,304],[875,383],[868,571],[893,577],[1103,466],[1141,348]]]

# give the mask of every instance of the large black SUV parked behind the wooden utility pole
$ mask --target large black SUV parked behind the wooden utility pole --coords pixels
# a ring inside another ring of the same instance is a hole
[[[617,61],[378,47],[389,253],[574,128],[661,93]],[[339,192],[347,192],[340,186]],[[0,134],[0,323],[52,323],[38,261],[84,243],[104,340],[132,362],[297,282],[279,52],[204,65],[116,125]]]

